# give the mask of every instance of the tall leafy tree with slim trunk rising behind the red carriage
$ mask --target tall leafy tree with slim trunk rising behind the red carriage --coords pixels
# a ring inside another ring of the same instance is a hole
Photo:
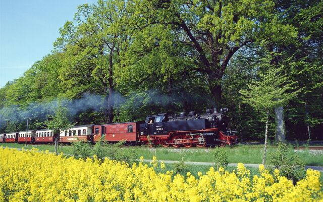
[[[69,54],[66,59],[70,68],[69,87],[78,88],[72,91],[81,93],[95,86],[106,95],[107,123],[113,122],[114,115],[114,71],[122,68],[120,55],[130,40],[124,26],[128,15],[122,0],[100,0],[97,5],[79,6],[74,22],[68,21],[64,25],[62,36],[55,44],[59,51]]]

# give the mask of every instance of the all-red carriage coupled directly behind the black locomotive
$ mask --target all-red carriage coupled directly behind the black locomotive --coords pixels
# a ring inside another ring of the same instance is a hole
[[[104,141],[118,142],[125,140],[135,143],[139,138],[139,125],[142,122],[113,123],[94,126],[94,141],[104,135]]]

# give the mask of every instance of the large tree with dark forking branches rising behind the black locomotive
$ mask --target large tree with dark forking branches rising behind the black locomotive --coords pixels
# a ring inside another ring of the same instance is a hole
[[[186,55],[206,74],[207,85],[218,107],[221,83],[232,56],[243,46],[274,35],[289,40],[294,30],[275,20],[274,1],[132,1],[138,29],[155,24],[173,25]],[[284,34],[282,34],[284,33]]]

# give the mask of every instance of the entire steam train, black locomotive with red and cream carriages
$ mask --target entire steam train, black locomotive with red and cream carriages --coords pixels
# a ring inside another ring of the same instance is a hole
[[[99,140],[106,142],[125,141],[127,144],[163,145],[164,147],[204,147],[233,145],[237,142],[236,131],[228,130],[227,108],[216,108],[205,114],[187,115],[158,114],[146,117],[145,121],[112,124],[73,126],[54,134],[52,130],[28,130],[0,134],[0,142],[69,144],[74,141]]]

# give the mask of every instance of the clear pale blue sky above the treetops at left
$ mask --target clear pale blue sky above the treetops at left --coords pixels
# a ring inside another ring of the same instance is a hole
[[[77,6],[96,0],[0,0],[0,87],[50,54]]]

